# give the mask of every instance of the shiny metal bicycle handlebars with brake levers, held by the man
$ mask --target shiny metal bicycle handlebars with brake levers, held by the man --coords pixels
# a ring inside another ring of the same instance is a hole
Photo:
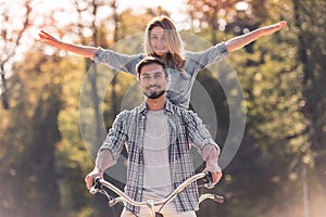
[[[89,190],[89,192],[91,194],[96,194],[96,193],[104,194],[106,196],[106,199],[109,200],[108,205],[110,207],[113,207],[114,205],[116,205],[118,203],[125,204],[126,202],[128,202],[128,203],[130,203],[131,205],[135,205],[135,206],[147,206],[147,207],[149,207],[150,210],[151,210],[151,216],[153,216],[153,217],[163,217],[163,214],[161,214],[160,212],[162,210],[164,205],[167,204],[168,202],[171,202],[172,200],[174,200],[177,196],[177,194],[180,193],[190,183],[192,183],[192,182],[195,182],[199,179],[202,179],[202,178],[204,178],[206,180],[206,183],[202,184],[202,187],[205,187],[206,189],[212,189],[214,187],[212,184],[212,176],[211,176],[210,173],[199,173],[197,175],[191,176],[187,180],[185,180],[177,189],[175,189],[172,193],[170,193],[165,199],[163,199],[161,201],[153,201],[153,200],[148,200],[148,201],[142,201],[142,202],[134,201],[128,195],[126,195],[123,191],[121,191],[118,188],[116,188],[112,183],[105,181],[101,177],[97,177],[95,179],[95,183],[93,183],[92,188]],[[118,197],[110,196],[109,193],[104,190],[103,187],[106,187],[111,191],[115,192],[118,195]],[[200,195],[199,203],[201,203],[201,202],[203,202],[204,200],[208,200],[208,199],[213,200],[217,203],[223,203],[224,202],[224,197],[221,196],[221,195],[205,193],[205,194]],[[155,212],[154,206],[161,206],[161,207],[158,209],[158,212]]]

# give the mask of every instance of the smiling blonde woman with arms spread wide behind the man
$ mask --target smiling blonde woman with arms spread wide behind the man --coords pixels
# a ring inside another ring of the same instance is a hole
[[[39,36],[43,42],[58,49],[93,59],[97,63],[104,63],[114,69],[131,73],[135,76],[137,75],[136,64],[146,55],[160,58],[170,68],[167,98],[176,104],[188,107],[191,88],[198,71],[215,61],[222,60],[228,53],[244,47],[262,36],[272,35],[280,30],[286,24],[287,22],[283,21],[259,28],[226,42],[212,46],[202,52],[184,51],[179,33],[173,21],[166,16],[158,16],[150,21],[145,33],[145,53],[134,55],[126,55],[102,48],[66,43],[43,30],[40,31]]]

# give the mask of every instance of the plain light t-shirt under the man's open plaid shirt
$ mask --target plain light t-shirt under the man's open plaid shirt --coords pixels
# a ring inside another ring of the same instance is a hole
[[[173,191],[165,111],[148,111],[143,138],[143,197],[160,200]]]

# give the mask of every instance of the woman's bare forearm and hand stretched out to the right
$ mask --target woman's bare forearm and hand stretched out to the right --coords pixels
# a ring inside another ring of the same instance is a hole
[[[258,28],[253,31],[250,31],[246,35],[235,37],[228,41],[226,41],[226,49],[228,52],[238,50],[240,48],[243,48],[248,43],[259,39],[262,36],[268,36],[274,34],[275,31],[280,30],[287,25],[286,21],[279,22],[277,24],[271,25],[271,26],[265,26],[262,28]]]

